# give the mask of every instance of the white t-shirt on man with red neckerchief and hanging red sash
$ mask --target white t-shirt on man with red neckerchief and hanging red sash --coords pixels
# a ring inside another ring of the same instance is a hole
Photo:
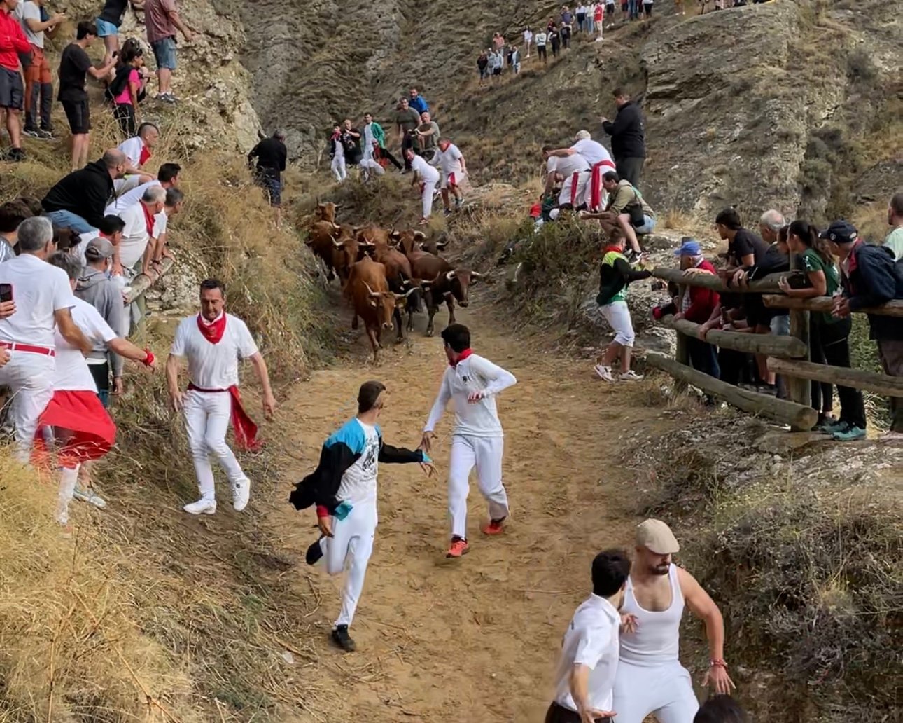
[[[209,343],[198,328],[198,316],[182,319],[170,353],[188,357],[188,377],[202,390],[228,390],[238,383],[238,360],[257,353],[254,337],[237,316],[226,315],[219,343]]]

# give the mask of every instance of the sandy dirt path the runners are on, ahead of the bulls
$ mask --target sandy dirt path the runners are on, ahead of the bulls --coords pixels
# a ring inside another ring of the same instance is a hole
[[[605,386],[587,364],[538,351],[485,312],[460,321],[470,325],[475,349],[518,380],[499,399],[512,504],[506,534],[480,534],[486,505],[471,481],[470,554],[444,557],[447,412],[433,450],[438,479],[416,465],[380,467],[379,528],[352,626],[358,653],[343,655],[327,637],[341,579],[304,566],[314,531],[284,504],[273,512],[291,547],[286,556],[298,561],[299,592],[321,593],[314,615],[321,658],[311,670],[334,700],[330,720],[541,721],[561,635],[588,592],[591,558],[627,543],[635,523],[625,512],[627,473],[615,463],[631,426],[658,416],[644,404],[643,385]],[[444,363],[438,338],[414,333],[376,368],[355,362],[316,372],[285,405],[297,411],[291,442],[315,459],[322,440],[353,416],[359,384],[376,378],[390,391],[386,440],[416,446]]]

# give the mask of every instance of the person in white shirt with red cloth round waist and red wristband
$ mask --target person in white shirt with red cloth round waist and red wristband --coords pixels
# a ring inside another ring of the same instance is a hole
[[[52,267],[60,268],[66,274],[70,289],[75,291],[81,272],[79,259],[57,251],[48,260]],[[119,338],[87,301],[73,297],[72,320],[92,343],[154,368],[154,354]],[[48,429],[50,437],[56,436],[57,449],[54,451],[61,467],[56,518],[65,525],[69,522],[69,503],[75,493],[81,465],[107,454],[116,441],[116,425],[98,397],[97,383],[82,350],[70,344],[59,329],[54,341],[57,356],[53,396],[42,412],[39,425]],[[82,499],[98,507],[107,504],[97,495],[84,492]]]

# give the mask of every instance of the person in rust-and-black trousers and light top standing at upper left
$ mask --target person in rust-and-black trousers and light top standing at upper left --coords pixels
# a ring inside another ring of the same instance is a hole
[[[16,7],[25,37],[32,45],[32,59],[23,68],[25,76],[25,127],[23,133],[33,138],[53,137],[51,110],[53,109],[53,84],[51,64],[44,54],[44,36],[53,38],[66,19],[65,13],[56,13],[42,20],[44,0],[25,0]],[[40,116],[40,125],[39,125]]]

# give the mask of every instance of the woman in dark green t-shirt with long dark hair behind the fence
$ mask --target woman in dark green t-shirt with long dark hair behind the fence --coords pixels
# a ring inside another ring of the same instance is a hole
[[[781,279],[780,287],[791,298],[815,298],[834,296],[840,288],[841,279],[834,265],[834,258],[828,242],[819,239],[818,230],[805,221],[794,221],[787,230],[790,250],[799,254],[803,261],[805,275],[809,282],[805,288],[792,288],[787,279]],[[809,357],[818,364],[830,364],[842,369],[850,368],[850,332],[852,319],[839,318],[830,313],[811,312],[809,314]],[[833,419],[833,385],[827,382],[812,382],[812,406],[818,414],[815,428],[819,431],[847,432],[851,427],[861,430],[865,437],[865,403],[859,390],[838,387],[837,396],[841,400],[841,417]]]

